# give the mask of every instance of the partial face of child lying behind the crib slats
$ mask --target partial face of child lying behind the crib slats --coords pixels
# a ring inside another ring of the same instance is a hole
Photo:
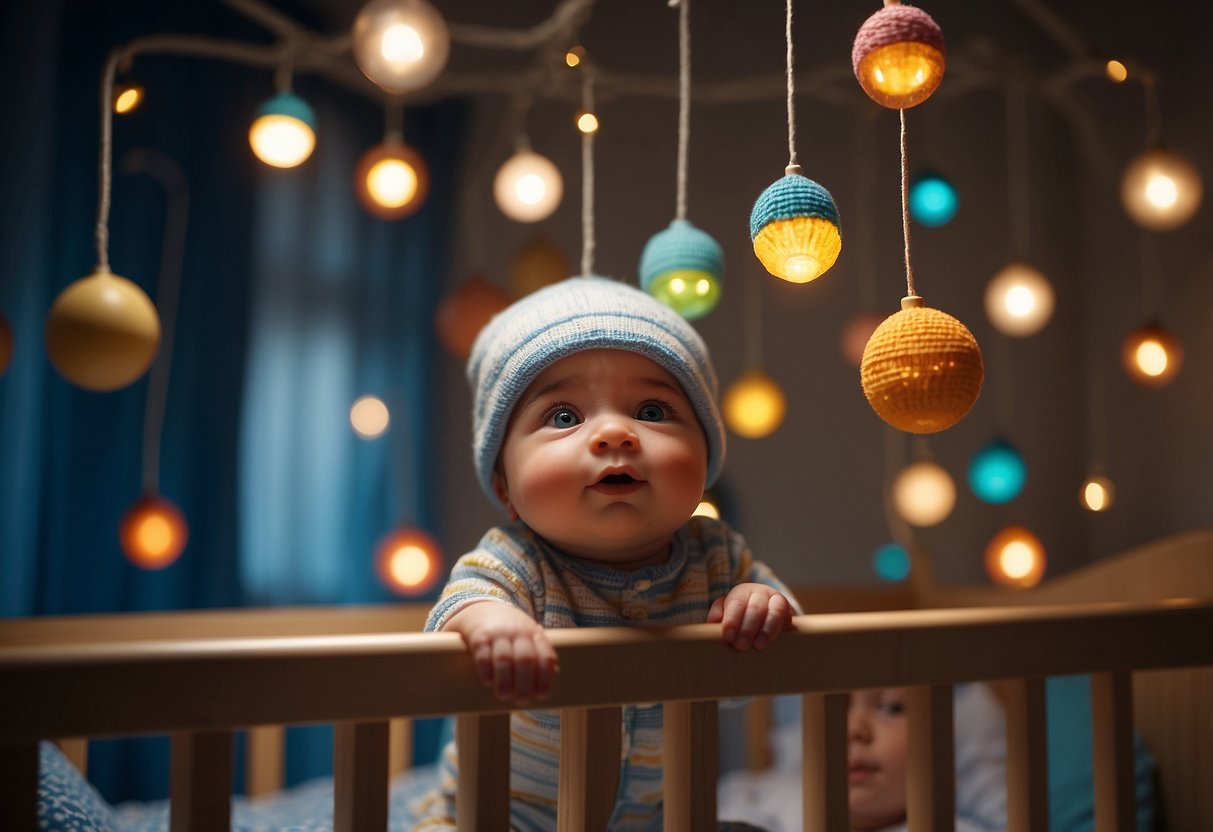
[[[850,828],[883,830],[905,819],[904,688],[859,690],[847,710]]]

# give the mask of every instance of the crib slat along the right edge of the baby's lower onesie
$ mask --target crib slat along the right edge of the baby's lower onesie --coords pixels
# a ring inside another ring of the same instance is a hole
[[[662,706],[667,832],[716,828],[717,717],[716,700]]]

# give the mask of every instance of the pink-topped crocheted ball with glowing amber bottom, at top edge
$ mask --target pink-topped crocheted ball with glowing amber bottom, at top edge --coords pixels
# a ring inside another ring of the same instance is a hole
[[[944,80],[944,34],[917,6],[887,5],[855,34],[850,65],[877,104],[909,109],[930,97]]]

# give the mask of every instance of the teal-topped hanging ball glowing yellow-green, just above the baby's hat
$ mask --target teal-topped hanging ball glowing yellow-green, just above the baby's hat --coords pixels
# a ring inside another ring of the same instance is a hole
[[[721,244],[687,220],[650,237],[640,252],[640,289],[687,320],[716,308],[723,278]]]

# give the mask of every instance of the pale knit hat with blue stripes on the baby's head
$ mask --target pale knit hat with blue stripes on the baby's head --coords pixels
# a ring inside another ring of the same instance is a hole
[[[472,344],[472,461],[494,501],[492,471],[518,399],[543,370],[586,349],[626,349],[665,367],[682,386],[707,438],[707,483],[724,465],[724,423],[707,344],[650,295],[598,277],[568,278],[495,315]]]

